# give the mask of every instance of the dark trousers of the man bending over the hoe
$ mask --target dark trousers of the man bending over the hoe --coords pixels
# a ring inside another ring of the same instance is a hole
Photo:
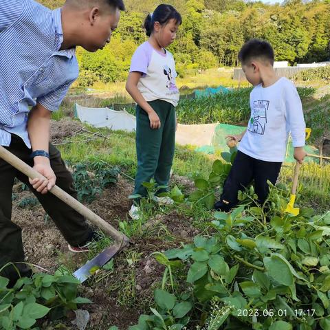
[[[33,166],[33,159],[29,157],[32,152],[31,149],[25,146],[23,140],[17,137],[17,135],[12,135],[10,146],[5,148],[22,159],[23,162]],[[50,144],[49,151],[50,164],[56,175],[56,185],[76,198],[72,175],[65,167],[60,152],[52,144]],[[85,219],[78,212],[50,192],[47,192],[46,195],[36,192],[31,187],[28,177],[0,158],[0,268],[8,262],[17,263],[24,261],[21,228],[11,221],[12,187],[15,177],[31,188],[69,244],[78,246],[87,240],[90,229]],[[33,223],[31,225],[33,226]],[[21,263],[17,264],[16,267],[21,276],[30,275],[29,267]],[[5,267],[0,275],[10,278],[11,284],[19,277],[12,266]]]

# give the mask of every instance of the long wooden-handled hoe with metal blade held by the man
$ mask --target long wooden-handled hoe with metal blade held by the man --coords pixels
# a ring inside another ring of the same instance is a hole
[[[8,162],[14,168],[19,170],[21,173],[30,177],[30,179],[45,179],[43,175],[38,173],[28,164],[25,164],[25,162],[10,153],[10,151],[8,151],[7,149],[3,148],[3,146],[0,146],[0,157],[4,159],[5,162]],[[53,195],[58,197],[58,199],[61,199],[61,201],[67,203],[67,205],[71,206],[78,213],[83,215],[85,219],[96,225],[104,233],[109,234],[109,236],[111,236],[115,240],[114,245],[103,250],[103,252],[98,254],[98,256],[96,256],[91,261],[88,261],[85,265],[83,265],[83,267],[81,267],[74,273],[74,276],[76,276],[76,278],[78,278],[78,280],[83,283],[85,280],[87,280],[87,278],[89,278],[89,276],[93,275],[96,270],[100,269],[100,267],[102,267],[111,258],[113,258],[115,254],[118,254],[126,245],[128,245],[129,239],[121,232],[118,232],[118,230],[115,230],[112,225],[104,221],[97,214],[89,210],[89,208],[74,199],[74,197],[70,196],[67,192],[65,192],[58,186],[54,186],[50,190],[50,192],[52,192]]]

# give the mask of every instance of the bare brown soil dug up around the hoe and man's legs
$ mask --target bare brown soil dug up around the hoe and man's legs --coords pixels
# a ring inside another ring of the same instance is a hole
[[[192,190],[193,186],[192,181],[177,175],[173,175],[172,184],[177,184],[184,192]],[[19,206],[23,200],[34,197],[32,192],[22,191],[21,188],[21,184],[14,187],[12,221],[22,228],[26,260],[38,266],[34,267],[35,271],[51,274],[63,263],[78,268],[82,264],[81,254],[72,254],[67,250],[65,239],[40,204],[24,208]],[[120,221],[130,221],[127,211],[131,201],[127,197],[132,190],[133,183],[119,177],[118,184],[104,190],[88,207],[119,228]],[[156,215],[144,223],[142,230],[142,237],[132,237],[129,247],[115,257],[112,274],[107,276],[108,273],[101,271],[91,281],[81,285],[80,296],[94,301],[93,305],[80,306],[80,309],[89,311],[91,316],[86,329],[107,330],[116,325],[124,330],[137,324],[140,314],[149,314],[148,307],[153,304],[153,289],[161,283],[164,274],[164,266],[157,263],[151,254],[176,248],[179,242],[187,242],[198,233],[192,227],[192,219],[177,214],[175,210],[166,215]],[[136,258],[132,263],[133,254]],[[105,278],[102,279],[104,274]],[[98,278],[101,281],[97,283]],[[133,282],[130,282],[131,278]],[[50,330],[57,325],[56,329],[78,329],[72,325],[74,318],[73,314],[71,318],[61,320],[61,325],[43,320],[39,327]]]

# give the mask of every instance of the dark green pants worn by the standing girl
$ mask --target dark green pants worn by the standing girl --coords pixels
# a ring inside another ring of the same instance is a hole
[[[141,196],[146,196],[142,183],[153,177],[158,186],[168,186],[175,152],[175,107],[163,100],[148,103],[159,116],[162,126],[151,129],[146,111],[136,107],[137,173],[134,194]]]

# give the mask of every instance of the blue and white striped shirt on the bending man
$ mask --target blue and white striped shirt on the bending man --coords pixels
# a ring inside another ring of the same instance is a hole
[[[56,111],[78,77],[76,48],[60,50],[62,42],[61,8],[0,0],[0,145],[9,146],[12,133],[30,148],[31,107]]]

